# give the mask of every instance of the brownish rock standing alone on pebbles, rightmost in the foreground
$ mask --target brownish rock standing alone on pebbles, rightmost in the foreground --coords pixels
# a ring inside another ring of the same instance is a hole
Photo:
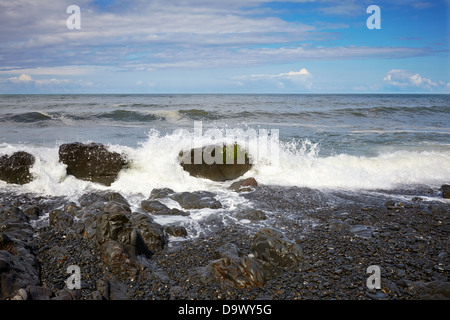
[[[258,231],[252,240],[250,251],[266,265],[286,270],[301,269],[304,260],[300,246],[273,228]]]

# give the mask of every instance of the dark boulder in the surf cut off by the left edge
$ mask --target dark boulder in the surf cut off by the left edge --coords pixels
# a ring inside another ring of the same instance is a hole
[[[15,184],[31,182],[33,176],[30,168],[34,165],[35,160],[33,155],[24,151],[0,157],[0,180]]]

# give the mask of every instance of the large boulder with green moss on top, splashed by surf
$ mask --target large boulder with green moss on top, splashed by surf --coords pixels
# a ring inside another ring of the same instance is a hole
[[[234,180],[252,165],[247,152],[239,145],[211,145],[180,153],[180,164],[191,176],[213,181]]]

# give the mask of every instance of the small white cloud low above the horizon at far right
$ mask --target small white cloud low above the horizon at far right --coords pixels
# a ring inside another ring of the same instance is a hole
[[[384,81],[392,86],[399,88],[417,87],[424,89],[433,89],[442,86],[443,82],[435,82],[429,78],[422,77],[418,73],[408,70],[393,69],[384,77]]]

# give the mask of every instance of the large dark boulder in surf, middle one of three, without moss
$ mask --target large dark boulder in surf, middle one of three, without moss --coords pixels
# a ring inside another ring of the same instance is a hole
[[[120,170],[127,164],[121,154],[108,151],[102,144],[79,142],[61,145],[59,161],[67,165],[67,174],[106,186],[116,180]]]

